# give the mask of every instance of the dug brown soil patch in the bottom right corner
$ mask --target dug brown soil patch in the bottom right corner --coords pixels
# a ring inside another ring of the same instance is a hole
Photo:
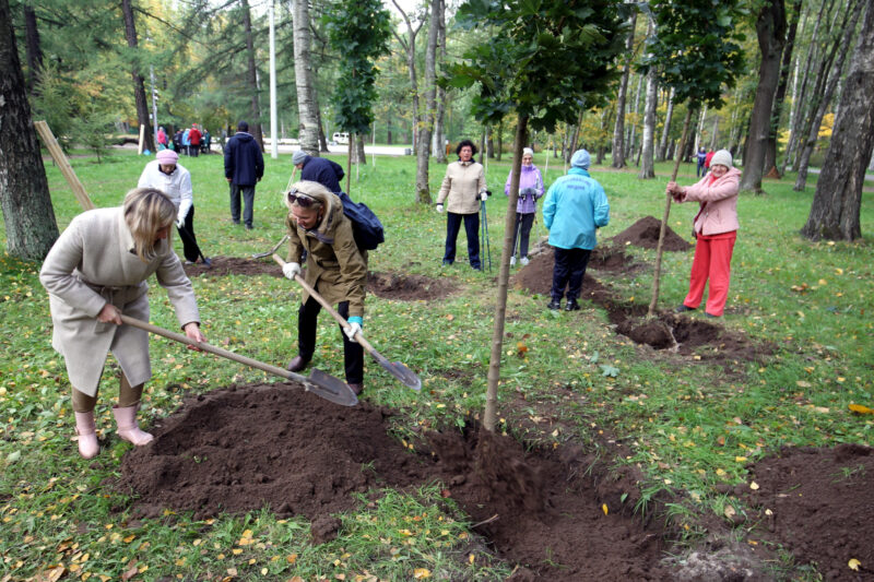
[[[826,580],[874,581],[874,449],[784,448],[753,466],[735,489],[757,510],[749,538],[782,544]],[[859,571],[848,563],[861,562]]]

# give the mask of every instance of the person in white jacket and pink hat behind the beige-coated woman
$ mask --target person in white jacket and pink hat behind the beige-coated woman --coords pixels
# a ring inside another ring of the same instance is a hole
[[[203,264],[212,262],[203,256],[194,236],[194,195],[191,189],[191,174],[179,164],[179,155],[170,150],[163,150],[150,162],[140,175],[138,188],[161,190],[176,206],[176,229],[182,240],[185,264],[194,264],[203,257]]]

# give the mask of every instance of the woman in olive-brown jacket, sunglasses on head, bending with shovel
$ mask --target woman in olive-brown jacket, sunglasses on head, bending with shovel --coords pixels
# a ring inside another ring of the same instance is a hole
[[[350,323],[340,328],[346,383],[355,394],[364,390],[364,349],[353,338],[364,325],[364,298],[367,282],[367,250],[355,241],[353,222],[343,212],[340,198],[324,186],[299,181],[285,192],[288,214],[288,253],[283,274],[294,280],[302,274],[305,260],[306,282]],[[316,330],[321,305],[304,293],[297,311],[297,356],[288,370],[307,367],[316,353]]]

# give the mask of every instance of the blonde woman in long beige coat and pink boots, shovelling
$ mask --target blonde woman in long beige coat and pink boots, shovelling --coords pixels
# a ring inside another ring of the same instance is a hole
[[[145,281],[153,273],[167,289],[186,335],[206,341],[191,282],[168,239],[175,221],[176,206],[166,194],[138,188],[123,206],[73,218],[43,263],[39,281],[48,290],[55,325],[51,345],[67,361],[79,452],[85,459],[99,451],[94,407],[110,351],[121,366],[118,405],[113,407],[118,435],[133,444],[152,440],[137,424],[143,384],[152,377],[149,334],[122,325],[119,316],[149,320]]]

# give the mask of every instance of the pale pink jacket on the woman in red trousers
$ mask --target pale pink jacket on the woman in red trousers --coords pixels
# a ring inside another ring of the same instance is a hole
[[[737,222],[737,192],[740,190],[741,170],[729,168],[721,178],[710,183],[708,173],[698,183],[683,189],[680,202],[696,200],[701,203],[701,211],[695,219],[695,231],[705,236],[731,233],[740,228]]]

